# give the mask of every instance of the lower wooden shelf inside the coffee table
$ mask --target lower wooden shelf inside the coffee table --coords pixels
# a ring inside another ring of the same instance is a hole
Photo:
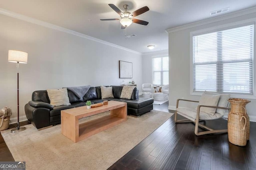
[[[126,121],[126,118],[117,117],[114,115],[107,115],[86,123],[79,124],[79,139],[82,140],[89,136],[92,136],[98,132],[106,130],[110,127],[118,125]]]

